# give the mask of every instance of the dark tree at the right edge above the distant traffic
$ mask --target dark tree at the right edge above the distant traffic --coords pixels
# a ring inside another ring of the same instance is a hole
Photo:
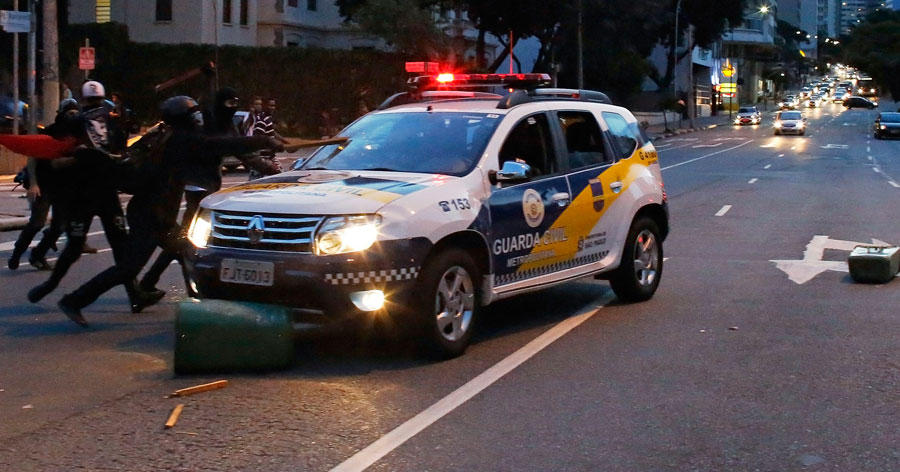
[[[878,11],[850,32],[844,61],[872,76],[900,101],[900,12]]]

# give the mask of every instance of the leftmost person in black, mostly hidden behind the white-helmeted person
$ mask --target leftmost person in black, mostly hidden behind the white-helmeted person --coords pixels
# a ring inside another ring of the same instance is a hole
[[[42,132],[44,134],[56,133],[56,130],[64,125],[64,121],[77,115],[78,111],[78,102],[74,99],[63,100],[59,104],[59,112],[56,115],[54,124]],[[7,265],[12,270],[19,268],[19,259],[25,254],[38,231],[44,227],[50,207],[55,206],[54,204],[58,200],[56,197],[61,177],[58,175],[59,171],[53,168],[51,161],[29,158],[28,174],[28,178],[31,179],[28,188],[31,217],[28,219],[28,224],[19,233],[15,248],[9,257],[9,261],[7,261]],[[56,247],[56,241],[63,231],[63,216],[58,211],[54,211],[54,213],[50,227],[44,230],[41,242],[31,250],[31,255],[28,258],[28,262],[38,270],[51,269],[50,264],[47,262],[47,252],[50,248]]]

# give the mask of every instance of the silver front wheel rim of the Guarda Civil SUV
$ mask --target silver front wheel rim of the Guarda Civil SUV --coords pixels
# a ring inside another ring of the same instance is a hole
[[[466,269],[453,266],[444,272],[435,294],[435,321],[447,341],[457,341],[469,330],[475,309],[475,286]]]

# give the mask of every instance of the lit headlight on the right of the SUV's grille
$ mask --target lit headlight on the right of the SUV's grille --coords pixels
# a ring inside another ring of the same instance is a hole
[[[316,254],[332,255],[364,251],[378,239],[380,215],[328,218],[316,233]]]

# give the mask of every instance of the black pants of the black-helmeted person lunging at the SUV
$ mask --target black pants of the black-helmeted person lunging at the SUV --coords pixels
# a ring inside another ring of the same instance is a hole
[[[153,256],[157,246],[178,253],[178,239],[170,236],[174,233],[171,227],[154,224],[154,212],[151,208],[128,207],[128,225],[131,232],[124,246],[121,258],[109,269],[97,274],[74,292],[63,297],[63,301],[76,308],[84,308],[93,303],[116,285],[124,284],[126,290],[135,277]],[[176,230],[180,228],[175,225]]]

